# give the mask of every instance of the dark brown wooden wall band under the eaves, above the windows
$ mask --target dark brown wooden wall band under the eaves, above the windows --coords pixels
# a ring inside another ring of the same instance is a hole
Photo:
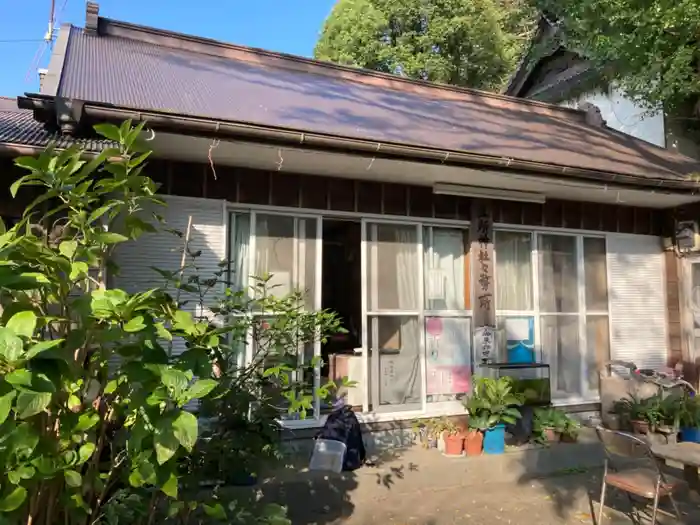
[[[471,199],[433,195],[429,187],[357,181],[207,164],[152,161],[149,174],[173,195],[411,217],[469,220]],[[493,201],[496,223],[661,235],[661,210],[590,202],[548,200],[545,204]]]

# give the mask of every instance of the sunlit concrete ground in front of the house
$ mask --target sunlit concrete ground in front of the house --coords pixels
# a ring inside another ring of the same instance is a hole
[[[342,474],[298,464],[262,481],[256,499],[286,505],[295,525],[597,525],[603,454],[593,436],[499,456],[447,458],[414,446],[376,459]],[[700,496],[680,496],[682,520],[659,523],[700,524]],[[636,523],[631,510],[610,489],[604,524]]]

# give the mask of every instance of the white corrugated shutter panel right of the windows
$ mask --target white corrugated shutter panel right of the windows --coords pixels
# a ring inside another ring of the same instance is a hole
[[[666,366],[664,256],[658,237],[608,235],[612,359]]]

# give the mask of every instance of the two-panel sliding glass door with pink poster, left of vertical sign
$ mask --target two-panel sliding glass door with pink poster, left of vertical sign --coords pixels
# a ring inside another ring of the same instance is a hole
[[[459,405],[472,375],[467,230],[365,221],[363,240],[365,410]]]

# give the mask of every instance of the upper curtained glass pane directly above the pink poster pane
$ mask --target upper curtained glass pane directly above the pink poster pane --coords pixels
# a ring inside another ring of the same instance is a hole
[[[464,245],[463,230],[423,228],[427,310],[469,308],[469,274]]]

